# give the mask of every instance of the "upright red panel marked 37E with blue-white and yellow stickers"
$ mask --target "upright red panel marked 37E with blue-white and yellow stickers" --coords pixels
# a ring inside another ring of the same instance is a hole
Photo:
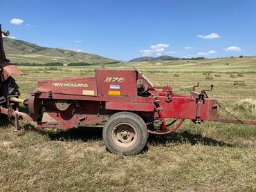
[[[135,70],[95,70],[98,95],[137,96]]]

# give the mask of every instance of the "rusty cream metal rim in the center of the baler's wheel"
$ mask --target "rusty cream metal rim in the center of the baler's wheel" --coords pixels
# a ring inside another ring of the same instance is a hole
[[[117,124],[111,133],[113,142],[122,148],[134,146],[138,140],[136,128],[129,123]]]

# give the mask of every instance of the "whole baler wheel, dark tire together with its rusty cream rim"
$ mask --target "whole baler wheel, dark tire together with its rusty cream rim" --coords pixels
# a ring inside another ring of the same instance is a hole
[[[103,140],[109,151],[136,155],[147,144],[147,126],[143,119],[130,112],[111,115],[103,128]]]

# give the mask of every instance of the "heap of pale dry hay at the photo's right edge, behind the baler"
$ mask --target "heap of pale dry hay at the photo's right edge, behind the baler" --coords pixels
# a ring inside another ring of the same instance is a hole
[[[256,100],[242,99],[235,102],[234,110],[239,112],[256,113]]]

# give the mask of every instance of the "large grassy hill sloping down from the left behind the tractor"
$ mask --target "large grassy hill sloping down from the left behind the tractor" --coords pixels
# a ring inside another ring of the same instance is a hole
[[[60,48],[46,48],[31,44],[27,41],[17,39],[3,38],[3,46],[8,58],[13,62],[31,61],[34,59],[37,63],[48,61],[71,63],[71,62],[89,62],[89,63],[108,63],[116,61],[107,57],[93,55],[85,52],[76,52],[73,50],[64,50]]]

